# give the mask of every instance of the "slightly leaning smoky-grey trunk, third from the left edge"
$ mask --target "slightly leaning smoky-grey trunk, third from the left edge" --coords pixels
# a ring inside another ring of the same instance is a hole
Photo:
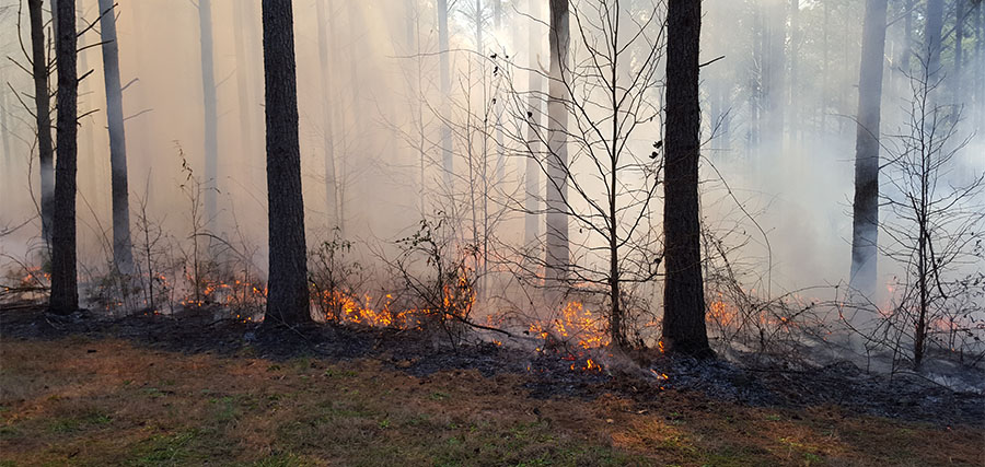
[[[113,0],[100,0],[103,75],[106,84],[106,119],[109,127],[109,167],[113,192],[113,262],[124,275],[134,272],[130,241],[130,201],[127,188],[127,138],[124,131],[123,87],[119,81],[119,45]]]

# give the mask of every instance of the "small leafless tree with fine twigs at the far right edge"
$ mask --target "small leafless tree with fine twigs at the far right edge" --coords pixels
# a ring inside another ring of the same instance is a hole
[[[962,303],[985,266],[985,174],[957,171],[970,139],[959,137],[960,108],[937,104],[942,79],[930,60],[920,57],[920,72],[911,77],[908,120],[887,162],[891,189],[883,202],[891,217],[881,225],[887,255],[904,268],[884,325],[912,339],[916,369],[932,343],[955,349],[953,335],[974,328],[981,303],[977,310]]]

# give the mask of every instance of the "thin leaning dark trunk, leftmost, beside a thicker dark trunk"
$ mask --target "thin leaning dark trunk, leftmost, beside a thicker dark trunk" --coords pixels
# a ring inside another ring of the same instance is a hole
[[[48,92],[48,58],[45,56],[44,0],[28,0],[31,15],[31,61],[34,74],[34,107],[37,122],[37,154],[40,168],[42,237],[50,253],[55,196],[55,149],[51,142],[51,95]],[[74,13],[72,14],[74,17]]]

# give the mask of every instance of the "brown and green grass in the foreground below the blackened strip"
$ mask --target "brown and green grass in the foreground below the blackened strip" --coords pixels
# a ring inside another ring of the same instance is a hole
[[[86,349],[96,349],[88,353]],[[983,431],[664,393],[528,398],[523,375],[0,342],[0,465],[981,465]],[[12,388],[12,389],[8,389]],[[792,413],[790,413],[792,415]],[[935,446],[916,450],[906,446]]]

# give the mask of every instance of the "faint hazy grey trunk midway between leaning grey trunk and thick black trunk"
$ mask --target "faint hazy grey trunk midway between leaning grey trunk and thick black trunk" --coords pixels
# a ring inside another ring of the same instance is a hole
[[[201,98],[205,105],[205,217],[206,225],[215,226],[219,194],[219,114],[212,59],[212,0],[198,2],[198,30],[201,45]]]

